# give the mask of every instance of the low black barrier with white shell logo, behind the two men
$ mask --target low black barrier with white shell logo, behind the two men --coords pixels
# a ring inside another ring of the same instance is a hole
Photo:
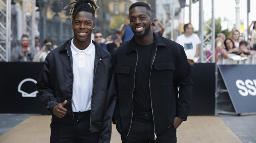
[[[0,113],[29,113],[50,114],[45,105],[39,99],[35,83],[27,81],[18,91],[18,86],[25,79],[37,81],[43,69],[43,63],[2,63],[0,62]],[[212,63],[199,63],[191,67],[194,82],[193,98],[191,102],[190,115],[213,115],[214,114],[214,92],[215,65]],[[35,95],[35,94],[34,94]]]

